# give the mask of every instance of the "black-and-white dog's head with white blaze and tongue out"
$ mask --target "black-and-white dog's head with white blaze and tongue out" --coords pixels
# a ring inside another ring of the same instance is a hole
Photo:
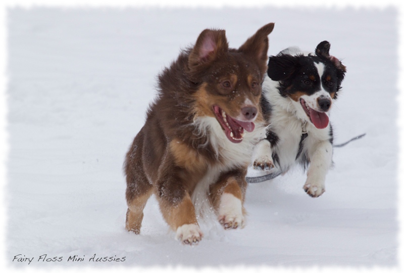
[[[315,54],[289,48],[271,56],[268,63],[268,76],[279,81],[280,95],[291,99],[300,119],[311,121],[319,129],[328,126],[328,111],[346,71],[329,50],[328,41],[320,42]]]

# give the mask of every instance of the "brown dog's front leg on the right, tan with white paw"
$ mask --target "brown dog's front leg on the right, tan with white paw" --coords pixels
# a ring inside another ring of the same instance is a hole
[[[243,228],[246,182],[244,176],[226,175],[211,186],[211,201],[225,229]]]

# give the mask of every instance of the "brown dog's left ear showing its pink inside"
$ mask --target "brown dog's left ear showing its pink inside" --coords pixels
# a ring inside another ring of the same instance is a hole
[[[205,29],[199,34],[195,46],[189,54],[188,66],[192,70],[215,60],[221,53],[227,52],[229,45],[224,30]]]

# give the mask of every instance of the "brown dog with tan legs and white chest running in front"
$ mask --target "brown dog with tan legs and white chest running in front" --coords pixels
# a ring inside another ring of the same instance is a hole
[[[124,164],[128,231],[139,234],[153,193],[185,244],[203,236],[196,219],[203,212],[195,211],[202,203],[213,206],[225,229],[243,225],[244,177],[266,133],[261,83],[273,27],[265,25],[238,50],[229,49],[224,30],[206,29],[160,74],[159,96]]]

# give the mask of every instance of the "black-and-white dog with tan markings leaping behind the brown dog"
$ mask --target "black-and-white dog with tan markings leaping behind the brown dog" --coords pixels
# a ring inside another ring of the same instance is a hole
[[[309,166],[303,189],[312,197],[325,191],[333,152],[328,113],[346,71],[329,50],[323,41],[315,53],[292,47],[269,58],[261,106],[270,125],[252,160],[255,169],[268,172]]]

